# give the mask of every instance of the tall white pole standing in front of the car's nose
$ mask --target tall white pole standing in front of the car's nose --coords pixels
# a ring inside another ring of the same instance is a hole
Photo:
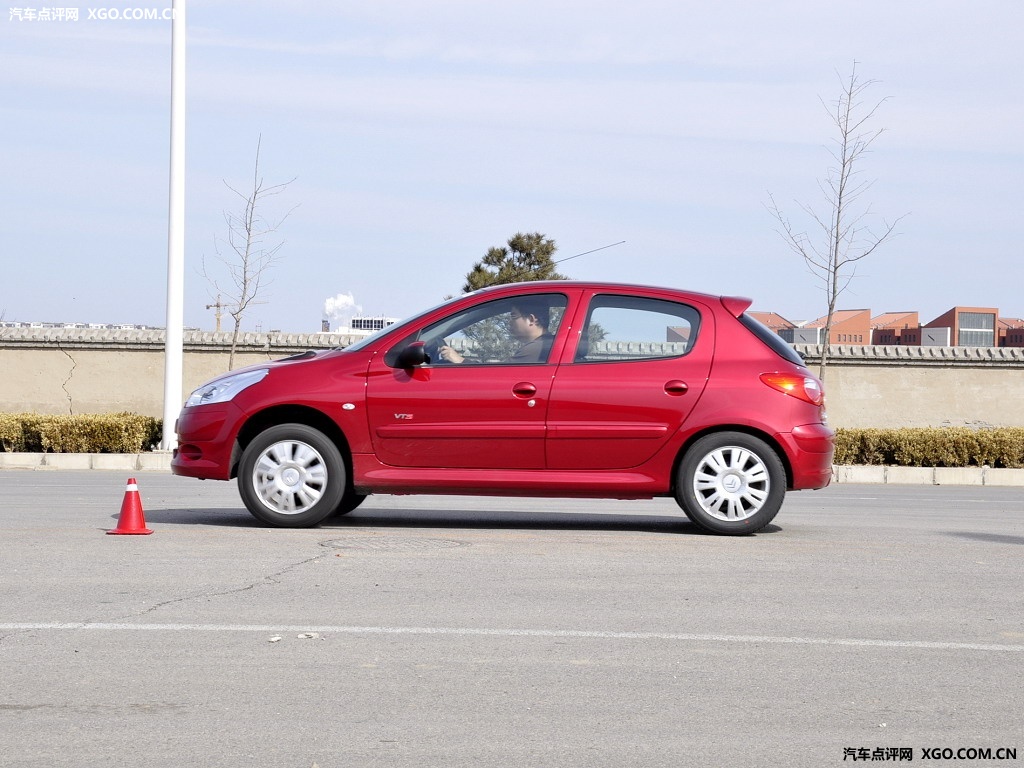
[[[185,0],[171,9],[171,180],[167,223],[167,331],[164,350],[164,431],[160,447],[172,450],[181,396],[185,262]]]

